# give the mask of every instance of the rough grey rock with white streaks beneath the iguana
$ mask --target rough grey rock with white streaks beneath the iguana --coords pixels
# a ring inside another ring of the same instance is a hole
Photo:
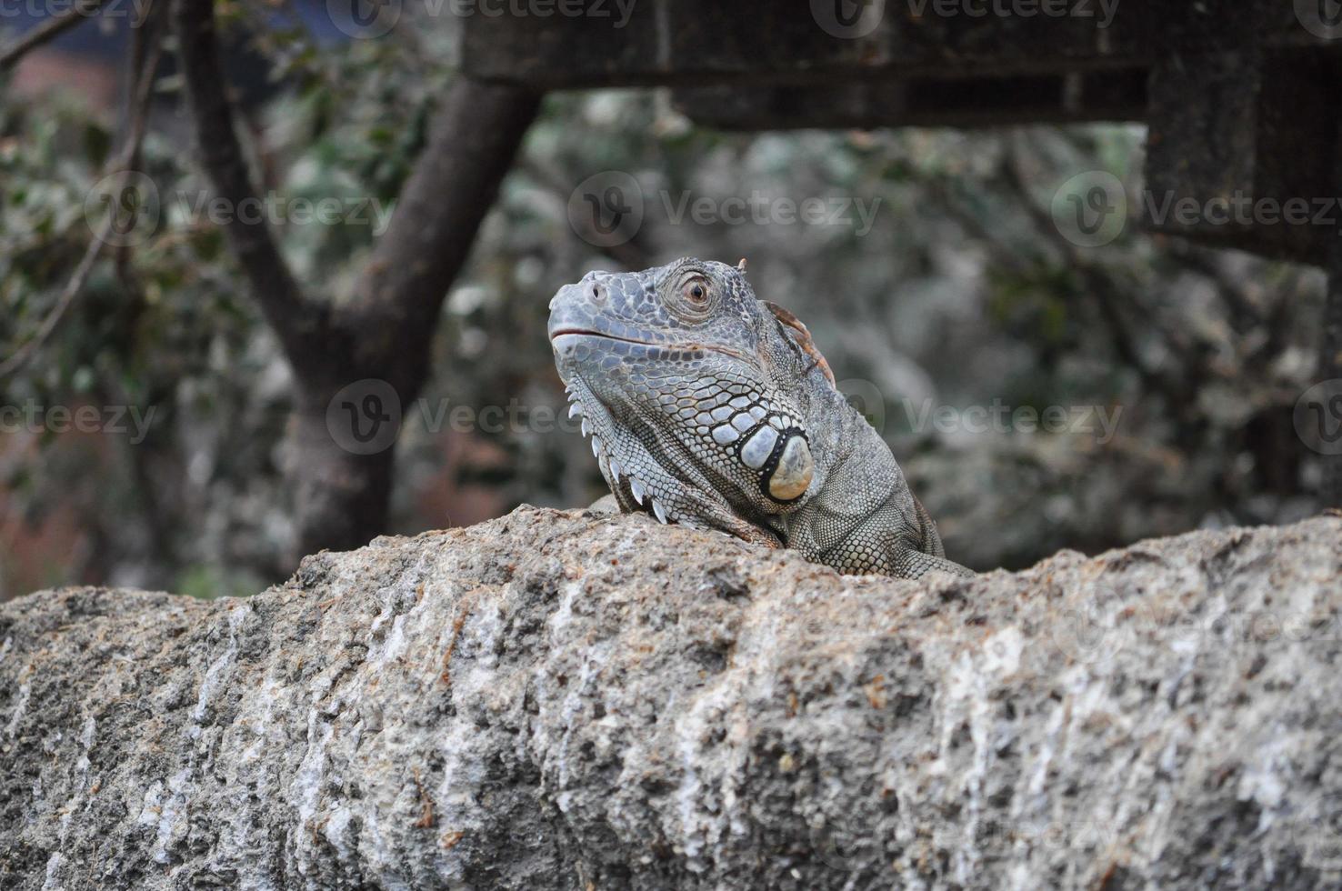
[[[1339,580],[1337,518],[911,582],[522,507],[39,592],[0,887],[1335,884]]]

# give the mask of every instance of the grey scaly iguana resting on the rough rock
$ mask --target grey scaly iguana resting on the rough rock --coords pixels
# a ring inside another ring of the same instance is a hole
[[[841,573],[970,576],[945,557],[884,440],[745,262],[588,272],[550,344],[620,510],[793,547]]]

